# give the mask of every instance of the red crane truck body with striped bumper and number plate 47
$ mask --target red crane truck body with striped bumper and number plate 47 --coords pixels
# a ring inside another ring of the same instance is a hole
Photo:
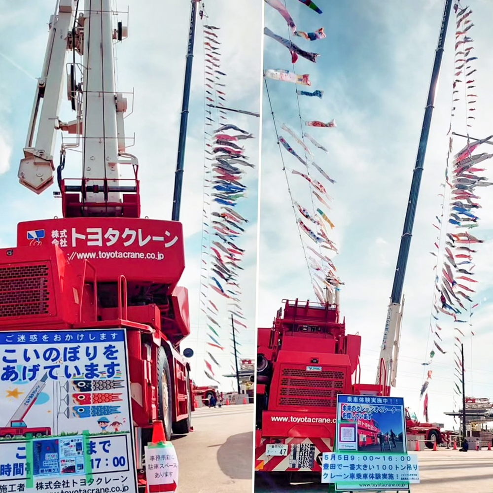
[[[339,304],[283,301],[272,328],[258,329],[255,470],[320,472],[333,450],[338,394],[388,395],[361,384],[361,336],[346,334]]]

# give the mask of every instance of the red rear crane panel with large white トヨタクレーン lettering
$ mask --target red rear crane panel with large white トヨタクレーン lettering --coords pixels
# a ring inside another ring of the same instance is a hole
[[[17,225],[17,246],[50,245],[58,246],[69,262],[90,261],[100,281],[112,280],[117,266],[127,280],[137,276],[141,282],[153,282],[158,268],[160,279],[166,275],[171,283],[185,268],[183,229],[177,221],[64,217]]]

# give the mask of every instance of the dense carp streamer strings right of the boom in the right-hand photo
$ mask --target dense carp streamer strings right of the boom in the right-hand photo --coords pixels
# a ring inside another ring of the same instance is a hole
[[[474,254],[484,242],[481,234],[475,232],[480,227],[481,192],[493,185],[485,168],[478,166],[491,159],[493,154],[480,152],[488,150],[484,139],[463,139],[458,136],[469,134],[474,126],[478,108],[475,76],[477,57],[473,56],[474,40],[471,37],[472,10],[454,5],[456,13],[456,42],[454,57],[454,77],[452,84],[453,101],[451,106],[449,142],[444,178],[441,185],[443,198],[441,212],[436,215],[432,226],[438,235],[430,254],[436,257],[434,267],[434,293],[429,321],[429,343],[431,352],[422,364],[433,365],[435,354],[453,354],[454,359],[454,409],[461,407],[462,363],[461,345],[466,337],[472,338],[473,315],[480,307],[475,299],[477,291],[477,271],[481,268],[474,260]],[[455,152],[454,152],[455,149]],[[479,231],[479,230],[478,230]],[[477,267],[477,269],[476,269]],[[447,337],[447,333],[449,337]],[[426,393],[431,380],[431,372],[423,384],[420,396],[427,399]],[[427,400],[426,400],[427,402]]]

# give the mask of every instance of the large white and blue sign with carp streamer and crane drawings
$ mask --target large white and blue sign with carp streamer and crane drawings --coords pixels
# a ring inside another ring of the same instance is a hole
[[[124,329],[0,332],[0,491],[137,493]]]

